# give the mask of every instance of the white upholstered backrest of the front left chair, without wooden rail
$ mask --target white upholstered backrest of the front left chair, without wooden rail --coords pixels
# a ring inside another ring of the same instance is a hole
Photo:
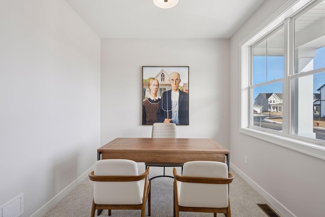
[[[137,163],[124,159],[96,161],[95,176],[137,176]],[[140,181],[94,181],[95,204],[142,204]]]

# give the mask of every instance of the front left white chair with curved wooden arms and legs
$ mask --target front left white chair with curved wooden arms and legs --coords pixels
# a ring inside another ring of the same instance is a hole
[[[98,209],[141,209],[145,216],[148,198],[150,216],[149,168],[139,175],[137,163],[124,159],[107,159],[95,162],[94,171],[89,174],[93,183],[93,202],[91,216]]]

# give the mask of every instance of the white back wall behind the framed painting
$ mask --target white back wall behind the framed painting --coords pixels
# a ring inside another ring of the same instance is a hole
[[[102,39],[101,145],[151,137],[142,126],[142,66],[189,66],[189,126],[178,137],[229,147],[229,40]]]

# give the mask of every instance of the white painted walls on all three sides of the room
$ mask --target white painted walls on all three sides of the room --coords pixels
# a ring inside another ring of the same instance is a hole
[[[2,1],[0,205],[24,193],[23,216],[42,216],[87,175],[96,148],[150,137],[141,125],[142,66],[189,66],[190,125],[179,137],[230,148],[233,168],[281,216],[321,216],[324,161],[239,133],[239,43],[286,2],[266,1],[230,41],[101,43],[63,0]]]

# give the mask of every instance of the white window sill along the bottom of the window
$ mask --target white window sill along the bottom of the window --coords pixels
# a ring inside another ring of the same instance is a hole
[[[309,156],[325,160],[325,146],[315,143],[305,142],[291,137],[284,137],[281,135],[272,134],[269,132],[258,131],[250,128],[241,128],[240,133],[252,136],[264,141],[280,145]]]

